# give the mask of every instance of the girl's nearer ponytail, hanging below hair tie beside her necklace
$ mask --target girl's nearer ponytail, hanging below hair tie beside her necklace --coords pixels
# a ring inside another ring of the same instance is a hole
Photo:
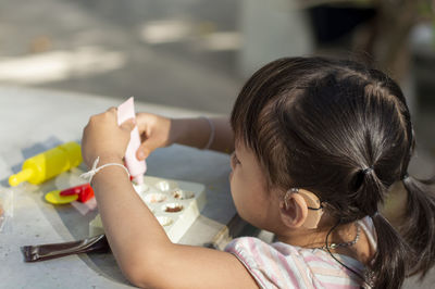
[[[369,281],[373,288],[400,288],[406,276],[409,248],[403,238],[381,214],[372,216],[377,235],[377,248]]]

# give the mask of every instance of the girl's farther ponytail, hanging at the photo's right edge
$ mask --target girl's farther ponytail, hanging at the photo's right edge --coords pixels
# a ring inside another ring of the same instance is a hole
[[[408,202],[399,229],[417,256],[410,260],[409,275],[420,274],[422,279],[435,263],[435,177],[421,180],[408,176],[402,181]]]

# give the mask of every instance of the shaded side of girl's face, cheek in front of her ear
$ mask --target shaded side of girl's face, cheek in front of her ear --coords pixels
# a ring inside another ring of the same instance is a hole
[[[231,166],[229,184],[238,214],[259,228],[274,231],[281,219],[278,194],[268,190],[265,175],[252,150],[236,142]]]

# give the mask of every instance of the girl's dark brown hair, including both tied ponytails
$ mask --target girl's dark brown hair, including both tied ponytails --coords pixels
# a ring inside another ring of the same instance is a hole
[[[341,223],[372,216],[375,288],[398,288],[407,275],[423,277],[434,264],[433,179],[408,177],[415,143],[411,116],[400,88],[384,73],[352,61],[279,59],[246,83],[231,123],[271,186],[313,191]],[[406,221],[394,228],[377,206],[403,178]]]

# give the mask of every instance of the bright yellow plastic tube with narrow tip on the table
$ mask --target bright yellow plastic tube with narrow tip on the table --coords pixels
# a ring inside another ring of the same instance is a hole
[[[39,185],[82,163],[80,146],[71,141],[27,159],[22,171],[9,177],[9,185],[23,181]]]

